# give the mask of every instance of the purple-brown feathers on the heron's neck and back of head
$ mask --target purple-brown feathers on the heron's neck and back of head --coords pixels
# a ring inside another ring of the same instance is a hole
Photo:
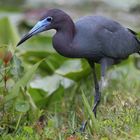
[[[53,37],[53,46],[63,56],[72,57],[72,41],[75,36],[75,25],[69,15],[61,10],[55,9],[55,21],[53,28],[56,34]]]

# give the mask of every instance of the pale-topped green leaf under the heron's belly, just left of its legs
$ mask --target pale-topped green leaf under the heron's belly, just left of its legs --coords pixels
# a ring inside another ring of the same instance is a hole
[[[85,60],[67,60],[55,72],[77,81],[90,73],[90,67]]]

